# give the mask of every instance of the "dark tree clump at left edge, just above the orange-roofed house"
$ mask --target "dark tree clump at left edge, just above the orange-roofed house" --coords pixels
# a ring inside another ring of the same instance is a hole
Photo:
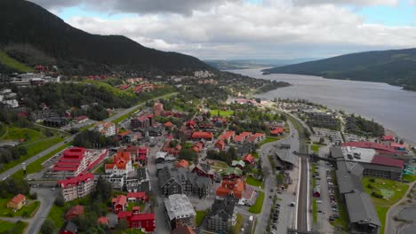
[[[30,186],[26,180],[10,176],[4,181],[0,181],[0,198],[2,199],[11,198],[19,193],[28,195],[29,192]]]

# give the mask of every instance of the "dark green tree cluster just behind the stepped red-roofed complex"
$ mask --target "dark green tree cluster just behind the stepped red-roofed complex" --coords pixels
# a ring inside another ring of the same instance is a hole
[[[102,136],[95,130],[86,130],[75,136],[73,144],[85,148],[98,148],[106,146],[117,146],[119,141],[116,136]]]

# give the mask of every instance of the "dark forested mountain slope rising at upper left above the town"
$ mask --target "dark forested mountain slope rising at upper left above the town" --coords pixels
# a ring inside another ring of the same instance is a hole
[[[23,0],[0,1],[1,51],[27,66],[57,65],[67,74],[212,70],[197,58],[149,49],[123,35],[88,34]],[[0,56],[0,73],[10,72],[4,64]]]

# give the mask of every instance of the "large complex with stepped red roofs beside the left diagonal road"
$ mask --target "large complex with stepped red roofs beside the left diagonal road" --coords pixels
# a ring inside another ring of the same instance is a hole
[[[97,165],[107,156],[107,150],[92,151],[82,147],[65,150],[52,168],[52,177],[69,178],[80,175]]]

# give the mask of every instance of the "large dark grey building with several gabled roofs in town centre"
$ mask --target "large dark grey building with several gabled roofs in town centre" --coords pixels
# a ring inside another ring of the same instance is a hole
[[[164,196],[172,194],[194,194],[200,199],[212,191],[212,180],[204,175],[197,175],[186,168],[164,167],[158,172],[159,187]]]

